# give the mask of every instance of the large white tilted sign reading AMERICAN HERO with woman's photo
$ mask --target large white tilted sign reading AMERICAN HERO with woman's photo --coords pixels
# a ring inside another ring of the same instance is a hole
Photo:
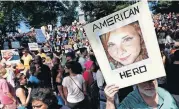
[[[84,26],[107,84],[120,88],[165,76],[146,1]]]

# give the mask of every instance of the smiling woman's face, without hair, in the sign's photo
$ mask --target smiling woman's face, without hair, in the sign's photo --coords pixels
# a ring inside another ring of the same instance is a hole
[[[140,54],[140,36],[133,26],[128,25],[110,33],[107,47],[114,60],[129,65]]]

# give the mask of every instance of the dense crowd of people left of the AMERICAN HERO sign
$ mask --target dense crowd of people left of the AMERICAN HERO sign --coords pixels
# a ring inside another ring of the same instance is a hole
[[[105,81],[82,25],[45,27],[47,41],[31,51],[35,35],[32,29],[4,39],[4,49],[20,43],[20,63],[1,61],[1,108],[98,109]]]

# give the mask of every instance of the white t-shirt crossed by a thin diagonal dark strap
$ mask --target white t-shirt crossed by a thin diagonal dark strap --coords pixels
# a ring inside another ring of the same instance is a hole
[[[85,80],[84,80],[83,76],[80,74],[78,74],[76,76],[72,76],[71,78],[69,76],[67,76],[63,79],[63,82],[62,82],[62,85],[64,87],[67,87],[67,90],[68,90],[67,101],[70,103],[81,102],[85,98],[83,92],[81,91],[83,89],[82,85],[85,82]]]

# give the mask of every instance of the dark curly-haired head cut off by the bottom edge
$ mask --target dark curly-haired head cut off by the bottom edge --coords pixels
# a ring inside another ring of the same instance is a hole
[[[31,92],[33,109],[58,109],[58,100],[48,88],[35,88]]]

